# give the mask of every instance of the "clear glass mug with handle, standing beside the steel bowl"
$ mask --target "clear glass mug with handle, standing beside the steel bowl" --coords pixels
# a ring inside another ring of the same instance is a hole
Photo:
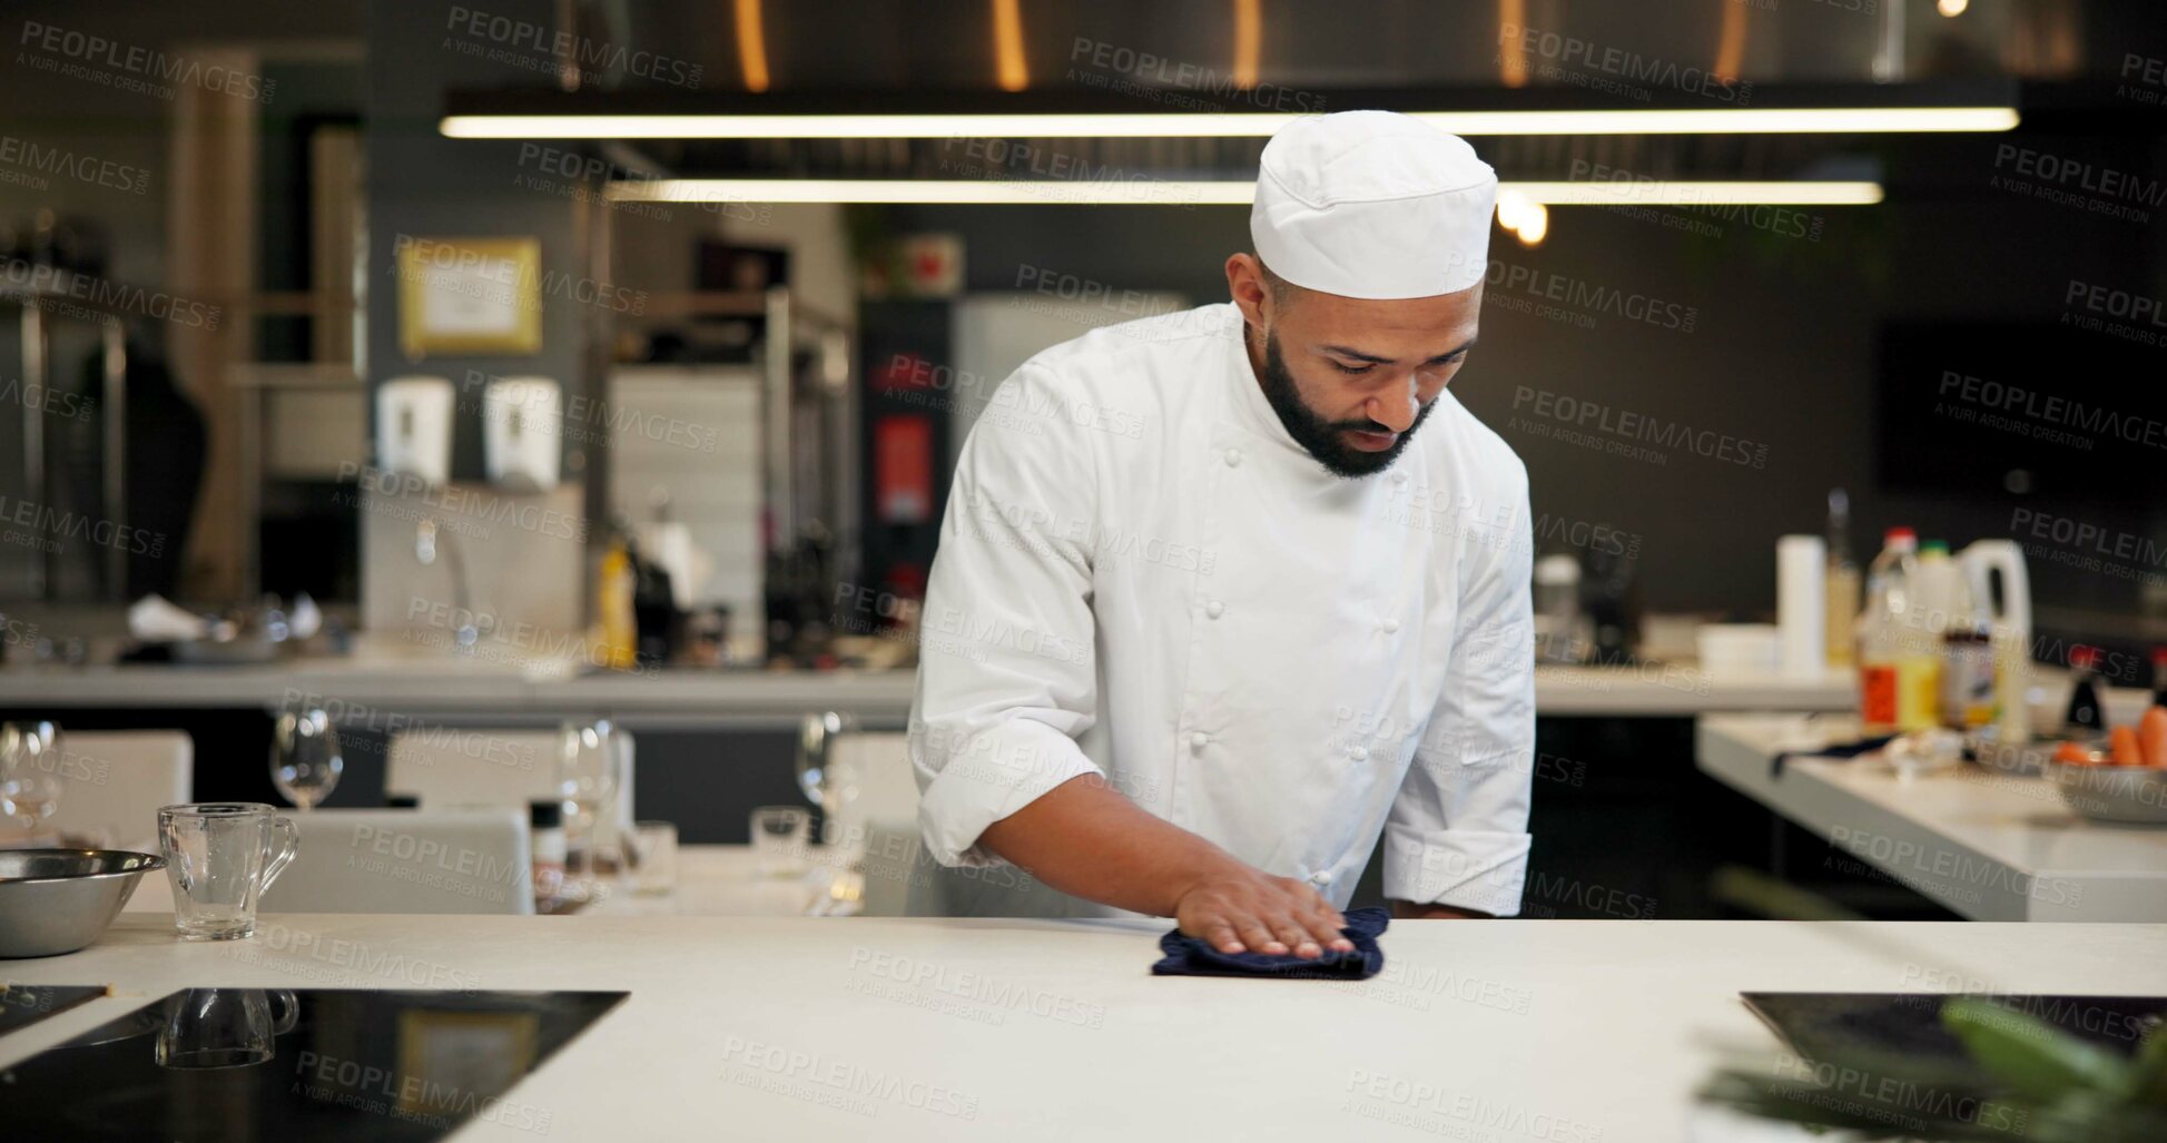
[[[262,802],[193,802],[158,811],[158,852],[173,883],[184,941],[256,933],[256,902],[293,861],[301,837]]]

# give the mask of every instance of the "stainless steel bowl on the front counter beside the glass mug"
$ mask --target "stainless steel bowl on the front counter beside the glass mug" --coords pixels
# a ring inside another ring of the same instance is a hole
[[[0,961],[59,956],[98,939],[163,857],[128,850],[0,850]]]

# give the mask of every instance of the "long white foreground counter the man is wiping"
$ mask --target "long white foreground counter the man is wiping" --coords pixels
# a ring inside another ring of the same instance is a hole
[[[2167,926],[1400,922],[1387,972],[1359,985],[1153,978],[1146,922],[277,926],[182,943],[165,917],[124,915],[85,952],[0,965],[119,991],[0,1039],[0,1067],[184,985],[436,980],[631,991],[507,1095],[546,1113],[550,1139],[1643,1141],[1688,1136],[1718,1052],[1773,1058],[1742,989],[2167,989]],[[852,1074],[901,1084],[821,1082]],[[457,1134],[531,1136],[514,1121]]]

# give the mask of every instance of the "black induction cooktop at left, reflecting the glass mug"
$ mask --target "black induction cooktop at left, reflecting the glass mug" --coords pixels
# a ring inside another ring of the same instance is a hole
[[[9,1139],[548,1134],[522,1084],[622,991],[184,989],[0,1069]]]

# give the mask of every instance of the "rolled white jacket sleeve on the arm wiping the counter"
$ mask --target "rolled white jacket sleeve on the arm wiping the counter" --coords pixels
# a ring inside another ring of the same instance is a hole
[[[1055,408],[1031,364],[1003,388]],[[1010,395],[1014,397],[1014,395]],[[943,865],[990,865],[992,822],[1079,774],[1099,694],[1090,536],[1097,460],[1066,419],[982,419],[964,442],[925,586],[910,761],[919,829]]]

